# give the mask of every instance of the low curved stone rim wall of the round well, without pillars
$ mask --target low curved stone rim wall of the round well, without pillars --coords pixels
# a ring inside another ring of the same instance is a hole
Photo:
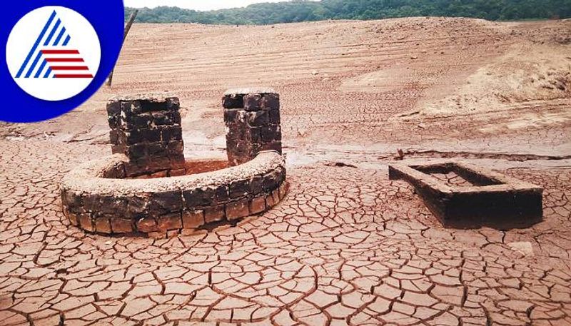
[[[173,178],[116,179],[126,165],[114,155],[74,170],[61,183],[64,213],[89,232],[148,233],[196,230],[222,220],[263,213],[285,195],[283,158],[259,153],[241,165]]]

